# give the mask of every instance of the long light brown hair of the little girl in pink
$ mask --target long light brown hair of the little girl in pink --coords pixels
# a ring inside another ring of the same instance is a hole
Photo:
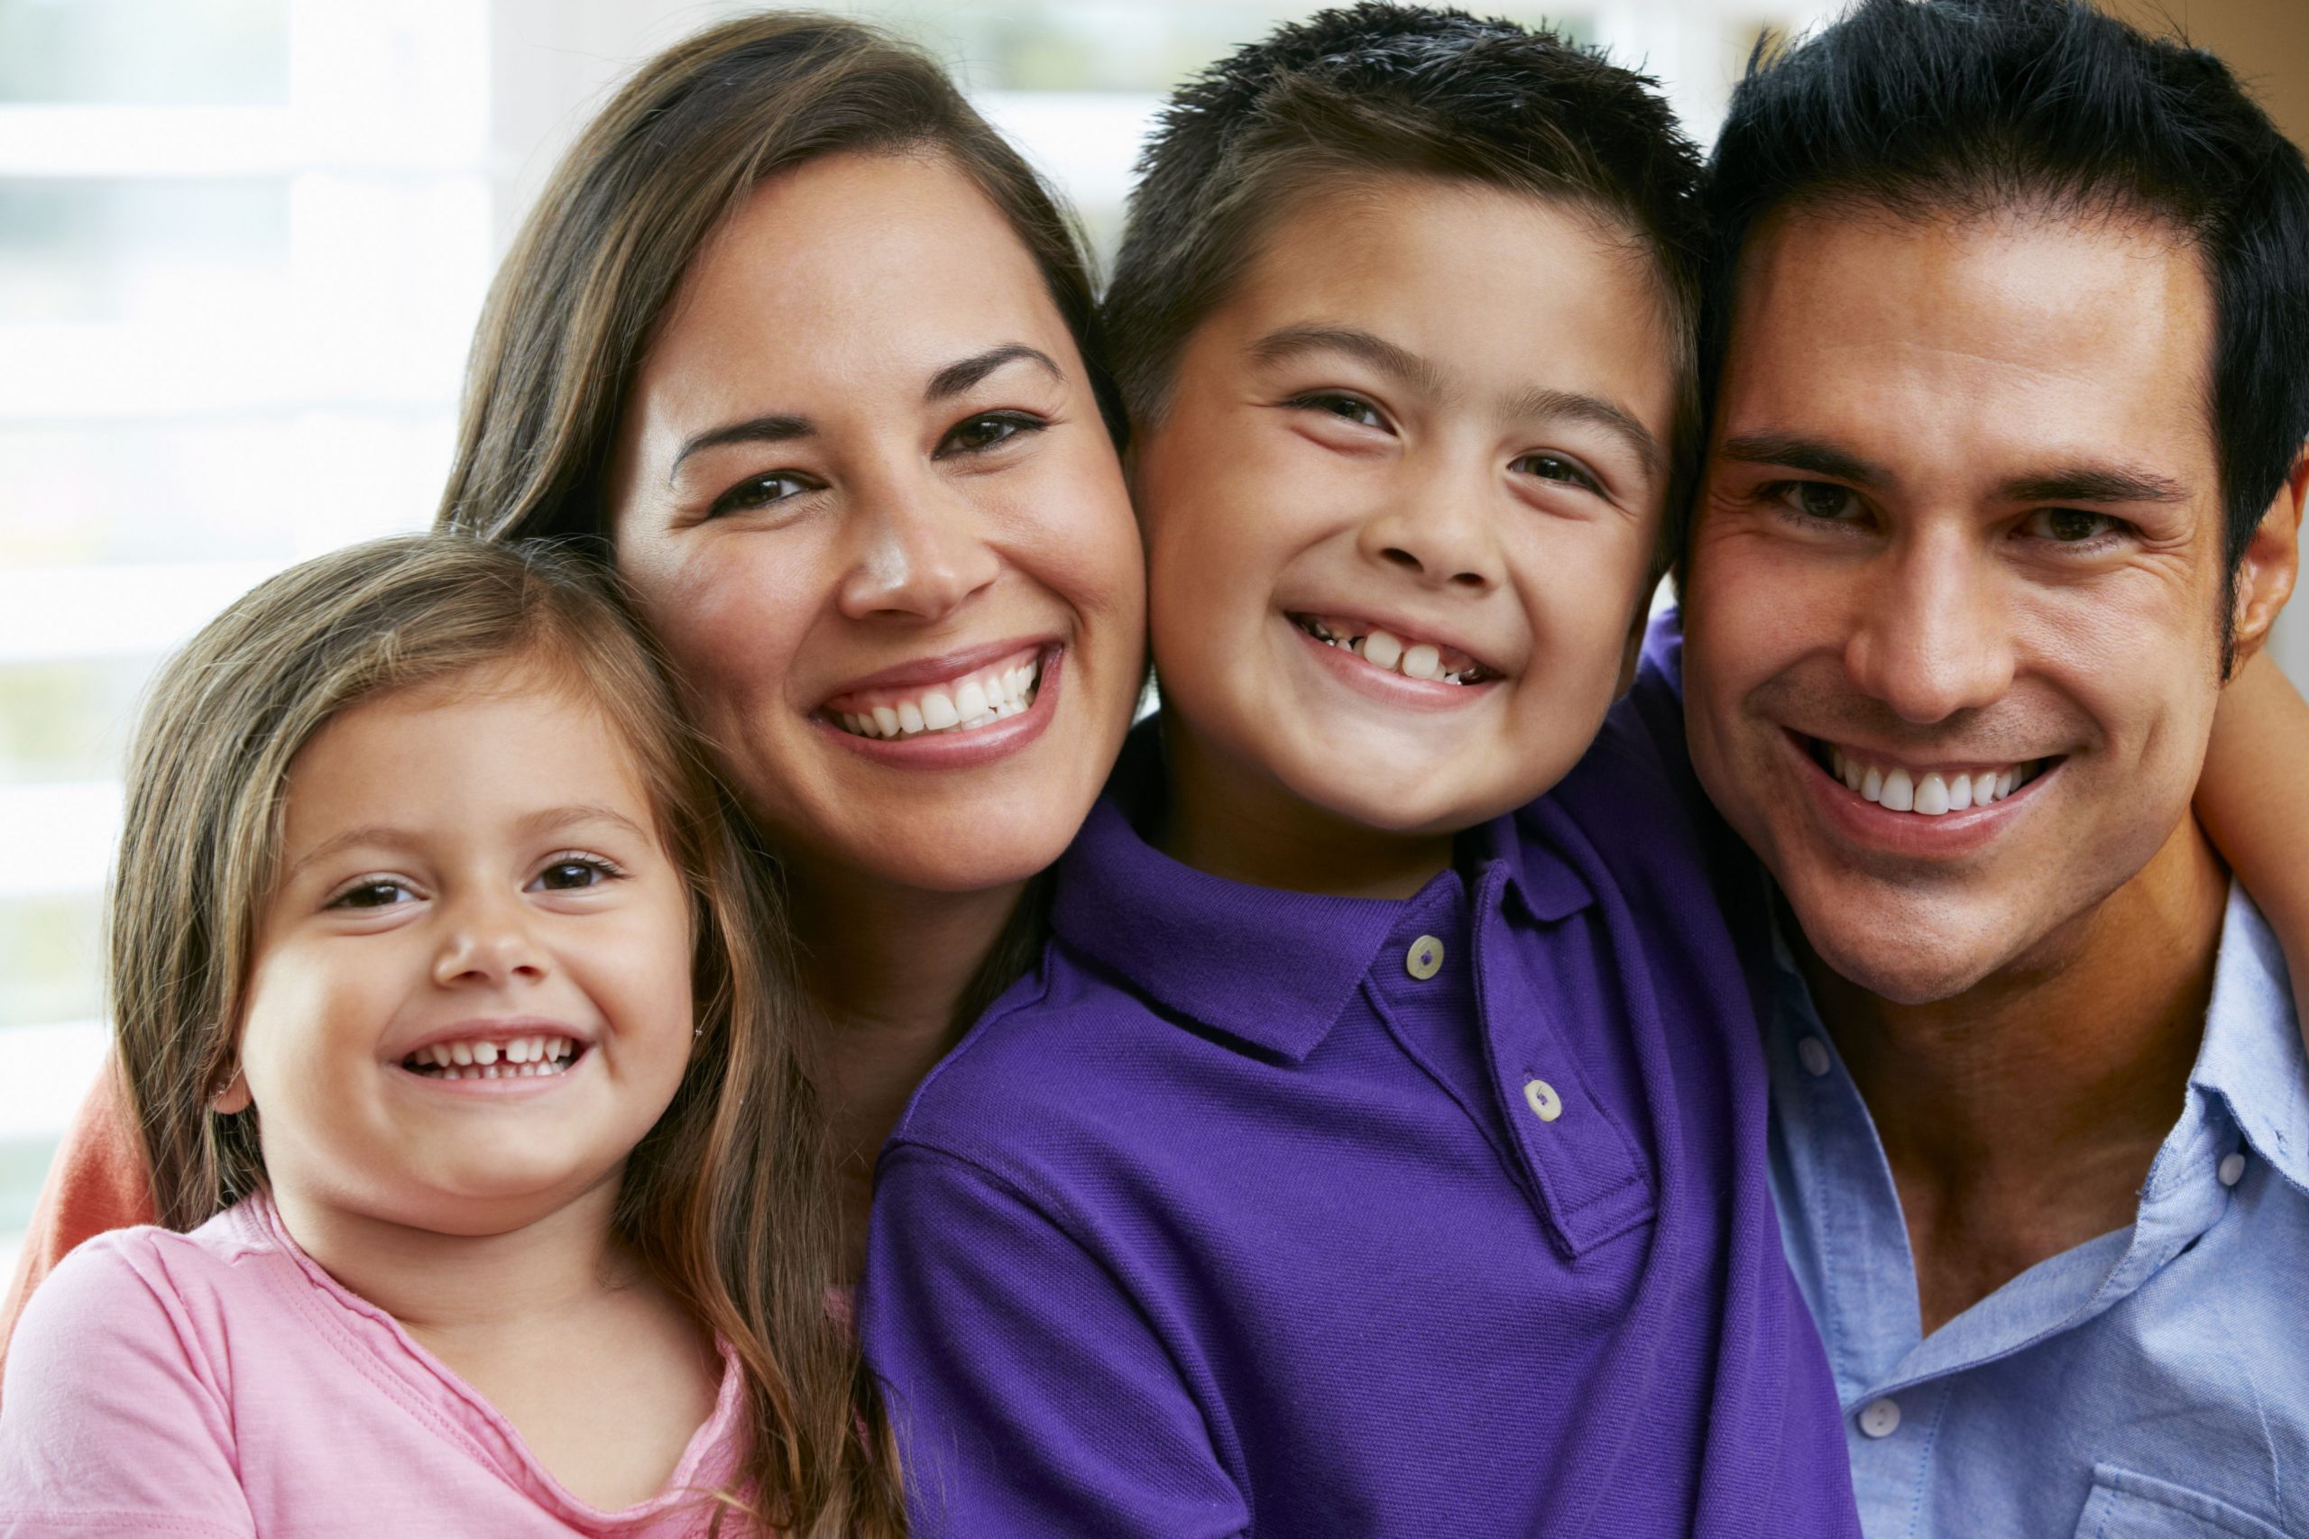
[[[831,1161],[785,916],[660,660],[573,554],[464,535],[356,545],[261,584],[162,669],[129,757],[106,937],[159,1221],[192,1230],[263,1184],[256,1112],[226,1117],[212,1096],[233,1073],[298,750],[360,701],[490,665],[603,708],[688,881],[700,1036],[614,1223],[746,1368],[750,1447],[716,1527],[901,1534],[889,1424],[827,1313]]]

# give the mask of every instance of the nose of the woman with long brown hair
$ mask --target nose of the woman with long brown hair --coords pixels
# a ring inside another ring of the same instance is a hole
[[[935,621],[1002,572],[979,510],[928,466],[864,478],[854,491],[857,542],[836,595],[845,616]]]

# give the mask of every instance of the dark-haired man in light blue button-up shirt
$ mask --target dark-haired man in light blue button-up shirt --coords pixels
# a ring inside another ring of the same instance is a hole
[[[1686,720],[1863,1525],[2304,1534],[2309,1071],[2189,798],[2295,577],[2309,171],[2083,5],[1863,0],[1711,175]]]

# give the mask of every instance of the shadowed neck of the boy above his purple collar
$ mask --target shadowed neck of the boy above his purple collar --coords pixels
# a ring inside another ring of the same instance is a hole
[[[1157,844],[1212,877],[1330,898],[1411,898],[1450,865],[1448,833],[1388,833],[1325,812],[1164,720],[1171,798]]]

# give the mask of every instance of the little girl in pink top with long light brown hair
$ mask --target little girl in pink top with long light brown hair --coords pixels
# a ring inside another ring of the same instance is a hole
[[[81,1246],[0,1534],[896,1534],[780,918],[621,607],[404,538],[145,711],[111,900],[166,1228]]]

